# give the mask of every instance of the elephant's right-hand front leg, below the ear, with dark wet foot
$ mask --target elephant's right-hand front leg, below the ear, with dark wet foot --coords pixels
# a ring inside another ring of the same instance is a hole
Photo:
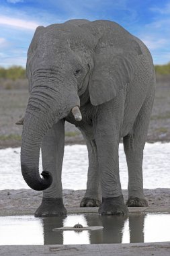
[[[101,215],[128,214],[124,203],[119,177],[118,145],[119,138],[113,134],[96,135],[97,157],[101,181]]]

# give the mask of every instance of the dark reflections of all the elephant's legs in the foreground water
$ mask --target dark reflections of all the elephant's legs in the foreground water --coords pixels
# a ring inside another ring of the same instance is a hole
[[[42,219],[44,245],[64,244],[63,232],[54,232],[52,229],[62,227],[65,218],[60,216]],[[96,214],[87,214],[85,215],[87,226],[103,226],[103,230],[89,231],[89,242],[91,244],[122,243],[124,224],[129,220],[130,243],[144,243],[144,218],[144,214],[130,214],[130,216],[96,216]]]

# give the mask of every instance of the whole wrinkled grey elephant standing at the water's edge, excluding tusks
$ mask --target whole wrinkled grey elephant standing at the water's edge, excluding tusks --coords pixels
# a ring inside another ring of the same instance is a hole
[[[103,215],[127,214],[126,205],[146,206],[142,158],[155,94],[153,60],[146,46],[105,20],[40,26],[28,51],[27,74],[30,98],[21,163],[26,183],[44,190],[35,216],[67,214],[61,184],[65,121],[81,130],[89,152],[87,191],[81,206],[97,206],[101,197],[99,214]],[[74,106],[80,106],[82,121],[75,121]],[[129,177],[126,204],[119,177],[121,137]]]

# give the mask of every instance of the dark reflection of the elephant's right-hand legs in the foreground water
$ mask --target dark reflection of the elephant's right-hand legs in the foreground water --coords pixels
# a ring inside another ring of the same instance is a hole
[[[124,224],[129,220],[130,243],[144,243],[144,214],[129,216],[85,216],[88,226],[103,226],[90,232],[90,243],[122,243]]]

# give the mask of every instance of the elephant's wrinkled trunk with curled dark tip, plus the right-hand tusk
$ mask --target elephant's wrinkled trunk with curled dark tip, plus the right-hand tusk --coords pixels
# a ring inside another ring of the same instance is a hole
[[[52,92],[52,93],[51,93]],[[81,120],[79,96],[76,92],[68,92],[66,96],[59,94],[48,85],[35,86],[30,95],[22,133],[21,166],[24,180],[34,190],[50,187],[52,176],[48,170],[39,174],[39,157],[42,137],[59,119],[66,117],[73,109],[77,121]]]

